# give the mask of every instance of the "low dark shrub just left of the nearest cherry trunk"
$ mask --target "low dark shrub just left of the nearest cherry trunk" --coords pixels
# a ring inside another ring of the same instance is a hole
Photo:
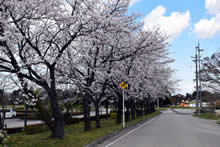
[[[24,128],[24,132],[27,134],[36,134],[47,130],[48,128],[44,124],[28,125]]]

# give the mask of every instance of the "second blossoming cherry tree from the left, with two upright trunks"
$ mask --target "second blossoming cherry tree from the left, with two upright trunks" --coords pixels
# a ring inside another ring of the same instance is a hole
[[[74,44],[74,48],[79,48],[79,51],[68,50],[65,57],[69,60],[64,58],[64,63],[59,68],[61,76],[67,75],[66,79],[70,78],[72,84],[80,87],[79,89],[84,93],[85,130],[91,128],[89,101],[95,105],[96,127],[100,127],[99,105],[105,95],[108,82],[106,77],[109,72],[105,68],[106,65],[128,58],[133,54],[126,51],[131,46],[129,36],[140,27],[135,23],[135,15],[126,15],[128,1],[116,0],[106,4],[104,1],[103,9],[101,9],[101,14],[107,19],[101,24],[102,27],[90,35],[80,38],[79,42]],[[106,12],[111,15],[106,15]],[[67,67],[62,68],[63,65],[67,65]]]

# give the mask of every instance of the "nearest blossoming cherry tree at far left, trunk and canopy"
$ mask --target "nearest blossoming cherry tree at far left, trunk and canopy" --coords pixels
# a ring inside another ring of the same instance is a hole
[[[98,13],[102,6],[97,3],[101,2],[0,1],[0,71],[16,74],[19,80],[34,82],[47,91],[55,138],[64,137],[63,115],[56,96],[56,66],[78,37],[91,33],[105,20]]]

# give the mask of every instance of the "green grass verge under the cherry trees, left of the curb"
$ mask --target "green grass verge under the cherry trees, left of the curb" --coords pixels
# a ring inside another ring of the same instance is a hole
[[[126,123],[126,126],[135,124],[144,119],[153,117],[160,114],[156,111],[152,114],[145,115],[136,120]],[[92,127],[95,127],[95,122],[92,121]],[[83,123],[74,124],[65,127],[65,139],[57,140],[50,138],[50,131],[27,135],[24,132],[12,134],[8,140],[8,147],[83,147],[84,145],[95,141],[105,135],[111,134],[115,131],[122,129],[121,125],[115,123],[115,119],[102,119],[101,127],[99,129],[92,129],[91,131],[84,132]]]

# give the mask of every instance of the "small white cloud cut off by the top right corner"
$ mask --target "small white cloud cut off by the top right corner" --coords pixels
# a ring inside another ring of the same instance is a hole
[[[217,14],[220,12],[220,0],[206,0],[205,8],[208,10],[209,14]]]

